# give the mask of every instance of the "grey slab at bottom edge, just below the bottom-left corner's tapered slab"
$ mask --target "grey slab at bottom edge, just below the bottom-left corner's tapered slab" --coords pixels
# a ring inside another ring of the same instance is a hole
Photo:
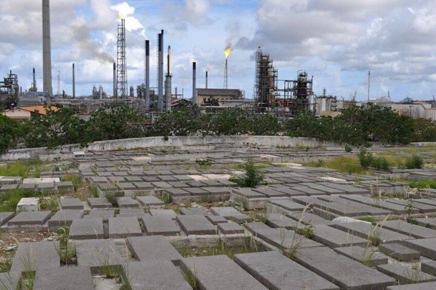
[[[94,289],[90,268],[79,266],[38,269],[33,290],[59,289],[60,283],[62,283],[62,290]]]

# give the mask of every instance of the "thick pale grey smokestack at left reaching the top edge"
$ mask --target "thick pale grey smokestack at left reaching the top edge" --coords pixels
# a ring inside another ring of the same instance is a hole
[[[43,43],[43,88],[53,95],[51,84],[51,39],[50,39],[50,2],[42,0],[42,43]]]

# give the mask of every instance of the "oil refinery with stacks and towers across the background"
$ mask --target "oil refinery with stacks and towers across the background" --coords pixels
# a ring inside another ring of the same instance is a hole
[[[182,105],[191,105],[197,109],[215,111],[225,108],[242,108],[258,113],[270,112],[281,118],[292,118],[299,112],[314,112],[318,115],[335,117],[341,109],[350,106],[364,105],[356,101],[356,94],[349,100],[339,99],[334,94],[328,94],[325,89],[320,93],[314,92],[314,75],[307,71],[298,70],[295,77],[279,78],[279,70],[273,57],[259,46],[255,52],[255,80],[252,98],[247,98],[241,88],[229,88],[228,61],[233,48],[227,45],[224,49],[224,85],[222,88],[208,87],[208,72],[206,71],[205,87],[196,83],[197,64],[192,64],[192,97],[184,94],[184,88],[177,91],[172,87],[173,75],[171,68],[171,46],[167,48],[166,67],[164,65],[164,31],[157,35],[157,84],[150,85],[150,40],[145,40],[144,51],[144,80],[141,84],[128,82],[128,59],[126,51],[129,49],[126,41],[125,19],[121,18],[117,27],[117,56],[113,63],[113,91],[105,91],[103,86],[94,85],[87,96],[76,95],[75,64],[72,64],[72,92],[69,94],[60,89],[60,71],[57,73],[57,93],[53,93],[51,69],[51,37],[50,37],[50,6],[49,0],[42,0],[43,15],[43,84],[38,89],[35,69],[33,68],[33,82],[31,87],[24,89],[19,85],[19,76],[9,71],[0,82],[0,103],[6,109],[23,106],[56,105],[72,107],[90,113],[93,110],[112,103],[124,103],[141,109],[144,114],[159,113],[177,109]],[[31,68],[29,68],[29,71]],[[166,70],[164,72],[164,70]],[[316,78],[316,76],[315,76]],[[129,86],[130,85],[130,86]],[[411,99],[401,103],[394,103],[387,98],[370,99],[370,75],[368,79],[368,102],[380,106],[391,107],[400,114],[415,118],[436,120],[436,102],[433,100],[417,102]]]

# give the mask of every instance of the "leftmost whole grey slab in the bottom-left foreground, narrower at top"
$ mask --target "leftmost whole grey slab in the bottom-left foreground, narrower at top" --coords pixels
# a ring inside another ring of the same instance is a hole
[[[21,243],[13,258],[11,272],[30,272],[44,267],[60,267],[58,242]]]

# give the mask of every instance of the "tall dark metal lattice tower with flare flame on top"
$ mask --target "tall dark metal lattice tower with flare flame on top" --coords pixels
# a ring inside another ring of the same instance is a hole
[[[117,42],[117,96],[126,99],[127,96],[127,62],[125,57],[125,20],[118,25]]]

